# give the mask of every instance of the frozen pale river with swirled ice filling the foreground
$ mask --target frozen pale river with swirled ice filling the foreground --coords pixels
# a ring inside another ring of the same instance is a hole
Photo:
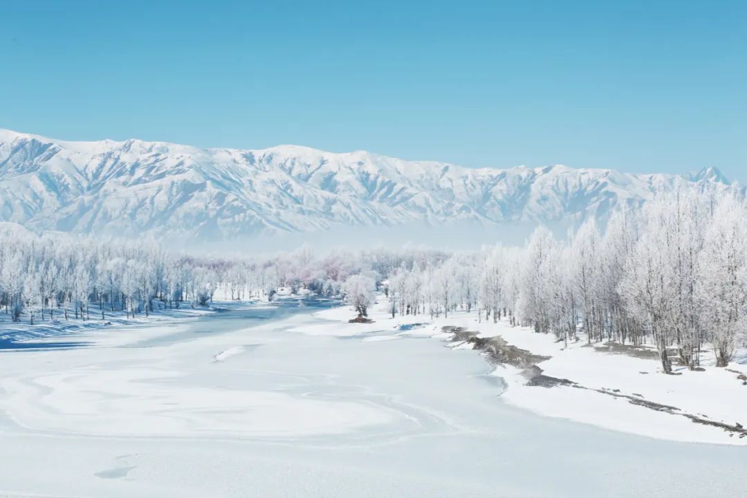
[[[290,332],[285,302],[0,354],[0,495],[743,497],[739,446],[658,441],[503,403],[432,338]],[[495,381],[495,379],[494,379]],[[538,387],[542,388],[542,387]]]

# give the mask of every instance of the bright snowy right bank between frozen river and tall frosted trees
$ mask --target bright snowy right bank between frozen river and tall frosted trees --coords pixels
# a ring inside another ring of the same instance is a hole
[[[474,331],[477,337],[502,337],[512,346],[549,357],[539,362],[542,375],[560,379],[552,387],[528,382],[523,368],[498,364],[492,375],[506,383],[503,401],[548,417],[561,417],[651,438],[699,443],[747,445],[747,437],[709,422],[747,426],[747,352],[727,368],[716,368],[713,352],[704,351],[702,371],[675,367],[675,375],[661,373],[652,347],[620,346],[585,340],[557,342],[552,334],[536,334],[506,321],[478,320],[477,314],[456,311],[448,318],[397,315],[379,296],[369,316],[373,323],[347,323],[354,313],[340,307],[320,311],[318,325],[297,329],[306,334],[356,335],[363,340],[396,340],[409,335],[451,337],[444,327]],[[470,343],[450,342],[454,349],[472,349]],[[697,423],[692,418],[703,421]]]

